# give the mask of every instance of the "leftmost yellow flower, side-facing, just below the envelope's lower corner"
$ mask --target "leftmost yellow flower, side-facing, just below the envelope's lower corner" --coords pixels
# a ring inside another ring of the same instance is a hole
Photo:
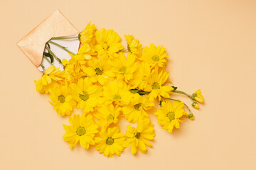
[[[53,65],[51,65],[46,69],[46,72],[43,73],[41,79],[34,81],[36,84],[36,91],[42,94],[48,94],[48,90],[53,87],[53,84],[51,83],[54,81],[60,82],[64,79],[64,77],[65,75],[59,70],[59,68],[55,68]]]

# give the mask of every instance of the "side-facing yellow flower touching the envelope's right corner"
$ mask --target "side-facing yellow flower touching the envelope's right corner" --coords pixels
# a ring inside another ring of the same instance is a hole
[[[80,42],[85,45],[87,43],[95,42],[95,25],[88,23],[85,27],[85,30],[82,30],[82,32],[78,35],[78,38]]]

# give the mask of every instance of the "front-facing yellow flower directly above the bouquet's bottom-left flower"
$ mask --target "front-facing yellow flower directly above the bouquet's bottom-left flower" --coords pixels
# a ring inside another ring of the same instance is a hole
[[[78,102],[77,108],[82,108],[85,113],[94,111],[94,107],[99,104],[102,88],[92,85],[88,77],[79,79],[78,84],[72,84],[73,97]]]

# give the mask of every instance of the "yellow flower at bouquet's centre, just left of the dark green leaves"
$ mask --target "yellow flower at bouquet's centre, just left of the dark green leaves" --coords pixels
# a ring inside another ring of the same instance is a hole
[[[123,81],[112,81],[103,87],[103,96],[105,103],[115,103],[118,106],[124,106],[129,103],[132,94],[129,92],[129,86]]]

